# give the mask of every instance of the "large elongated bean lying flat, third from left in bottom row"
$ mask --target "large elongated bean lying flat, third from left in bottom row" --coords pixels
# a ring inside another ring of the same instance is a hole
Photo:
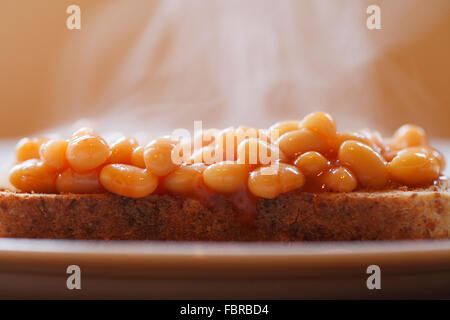
[[[143,198],[158,187],[158,177],[146,169],[126,164],[109,164],[100,172],[102,186],[115,194]]]

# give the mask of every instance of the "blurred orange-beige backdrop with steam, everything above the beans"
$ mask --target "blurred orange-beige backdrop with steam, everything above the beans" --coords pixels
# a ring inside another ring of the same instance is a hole
[[[81,30],[66,28],[73,3]],[[266,127],[315,109],[339,128],[450,136],[448,0],[2,0],[0,15],[1,137],[82,118],[128,134]]]

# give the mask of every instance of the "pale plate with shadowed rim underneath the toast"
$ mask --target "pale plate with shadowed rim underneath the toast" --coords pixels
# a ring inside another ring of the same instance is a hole
[[[81,268],[68,290],[66,268]],[[366,285],[369,265],[381,289]],[[1,298],[450,298],[450,240],[174,243],[0,239]]]

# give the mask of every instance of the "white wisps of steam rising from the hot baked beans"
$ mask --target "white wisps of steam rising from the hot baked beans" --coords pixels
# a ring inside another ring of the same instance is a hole
[[[61,54],[53,108],[61,123],[41,135],[88,125],[146,143],[175,128],[192,130],[194,120],[204,128],[268,127],[317,109],[340,128],[383,132],[389,119],[369,66],[417,40],[449,6],[381,1],[383,30],[369,31],[372,2],[109,1],[88,13]],[[380,72],[406,103],[433,103],[394,65]]]

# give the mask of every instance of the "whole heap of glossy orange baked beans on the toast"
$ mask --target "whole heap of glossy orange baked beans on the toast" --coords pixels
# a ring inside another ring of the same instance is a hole
[[[188,195],[199,189],[230,194],[244,188],[256,197],[274,198],[295,189],[427,186],[445,167],[442,154],[428,145],[418,126],[404,125],[383,139],[368,130],[338,132],[324,112],[278,122],[267,130],[209,129],[193,141],[165,136],[145,146],[131,137],[108,144],[92,129],[82,128],[67,140],[24,138],[16,155],[10,182],[20,191],[109,191],[133,198],[156,190]]]

